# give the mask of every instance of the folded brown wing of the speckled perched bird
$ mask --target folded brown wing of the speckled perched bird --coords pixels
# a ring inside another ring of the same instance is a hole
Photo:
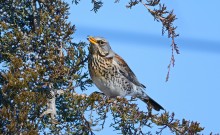
[[[115,54],[114,60],[120,66],[119,71],[124,77],[126,77],[129,81],[131,81],[135,85],[146,88],[143,84],[141,84],[137,80],[135,74],[129,68],[128,64],[118,54]]]

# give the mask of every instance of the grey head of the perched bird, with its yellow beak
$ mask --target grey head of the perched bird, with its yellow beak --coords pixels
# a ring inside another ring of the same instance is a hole
[[[90,42],[89,53],[98,54],[101,57],[113,57],[115,53],[112,51],[108,41],[103,37],[92,37],[87,38]]]

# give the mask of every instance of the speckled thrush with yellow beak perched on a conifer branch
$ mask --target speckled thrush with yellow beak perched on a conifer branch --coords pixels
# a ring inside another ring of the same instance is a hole
[[[88,69],[96,87],[110,98],[132,96],[150,104],[156,111],[164,108],[145,92],[125,60],[115,53],[103,37],[88,36]]]

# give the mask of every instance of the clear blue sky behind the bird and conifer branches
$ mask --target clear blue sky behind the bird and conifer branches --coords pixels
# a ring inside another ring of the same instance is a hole
[[[87,35],[105,37],[147,86],[147,93],[167,111],[175,112],[177,119],[200,122],[204,134],[220,133],[220,1],[162,1],[174,9],[180,34],[176,39],[180,55],[168,82],[171,40],[161,36],[161,24],[142,5],[130,10],[125,7],[128,1],[103,2],[97,14],[90,11],[88,1],[71,4],[69,20],[77,28],[74,40],[86,41]],[[140,102],[142,106],[146,107]],[[106,127],[98,134],[113,132],[108,123]]]

